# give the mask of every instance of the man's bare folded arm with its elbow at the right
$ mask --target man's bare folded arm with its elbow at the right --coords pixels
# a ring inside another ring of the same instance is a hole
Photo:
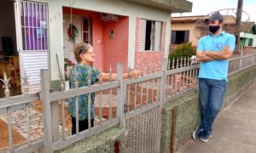
[[[219,52],[213,52],[213,51],[205,51],[203,54],[210,56],[214,59],[230,59],[233,52],[230,50],[230,46],[225,46],[222,51]]]

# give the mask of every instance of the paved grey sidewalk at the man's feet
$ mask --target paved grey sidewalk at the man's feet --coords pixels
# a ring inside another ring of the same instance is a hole
[[[208,143],[190,139],[177,153],[255,153],[256,82],[219,114]]]

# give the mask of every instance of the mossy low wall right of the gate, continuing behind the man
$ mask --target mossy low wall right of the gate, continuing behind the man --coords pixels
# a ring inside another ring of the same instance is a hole
[[[237,72],[229,76],[229,82],[225,94],[224,106],[230,105],[230,102],[248,88],[256,78],[256,66],[247,68],[244,71]],[[176,110],[175,128],[172,131],[173,110]],[[200,103],[198,90],[184,94],[178,99],[174,99],[163,108],[162,127],[161,127],[161,153],[177,150],[186,141],[191,139],[191,134],[200,122]],[[172,142],[172,132],[174,132],[174,142]]]

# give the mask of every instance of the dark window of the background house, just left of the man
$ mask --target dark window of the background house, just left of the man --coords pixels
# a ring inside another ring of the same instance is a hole
[[[182,44],[189,42],[189,31],[172,31],[172,44]]]

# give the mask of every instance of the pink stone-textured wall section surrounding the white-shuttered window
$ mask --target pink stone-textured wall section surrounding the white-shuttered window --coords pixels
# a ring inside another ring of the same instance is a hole
[[[135,68],[143,73],[160,71],[165,53],[166,44],[166,22],[162,25],[161,49],[160,51],[139,51],[140,19],[136,20],[136,42],[135,42]],[[143,69],[142,69],[143,68]]]

